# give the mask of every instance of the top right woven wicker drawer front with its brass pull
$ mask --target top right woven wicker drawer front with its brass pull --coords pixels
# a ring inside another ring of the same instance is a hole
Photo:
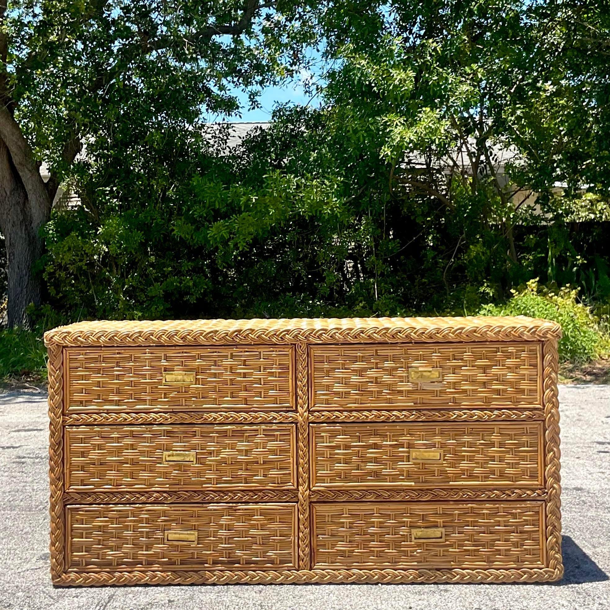
[[[312,409],[536,406],[539,361],[533,342],[314,345]]]

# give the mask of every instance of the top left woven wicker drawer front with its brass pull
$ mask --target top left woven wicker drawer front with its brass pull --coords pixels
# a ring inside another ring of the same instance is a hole
[[[74,348],[66,354],[68,412],[295,408],[290,347]]]

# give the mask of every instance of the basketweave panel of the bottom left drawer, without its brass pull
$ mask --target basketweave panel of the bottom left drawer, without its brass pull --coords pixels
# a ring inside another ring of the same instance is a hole
[[[296,566],[296,504],[74,506],[68,569],[274,569]],[[165,533],[196,532],[196,544]]]

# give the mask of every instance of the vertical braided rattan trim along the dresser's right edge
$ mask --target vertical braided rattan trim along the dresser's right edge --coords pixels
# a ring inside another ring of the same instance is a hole
[[[561,475],[559,473],[559,400],[557,391],[557,371],[559,356],[557,341],[545,341],[543,346],[545,413],[545,481],[547,485],[547,565],[558,573],[564,573],[561,556]]]

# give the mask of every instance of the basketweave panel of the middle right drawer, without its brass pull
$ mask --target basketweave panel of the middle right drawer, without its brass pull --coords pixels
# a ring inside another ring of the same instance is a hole
[[[542,422],[314,424],[310,437],[314,487],[542,486]]]

